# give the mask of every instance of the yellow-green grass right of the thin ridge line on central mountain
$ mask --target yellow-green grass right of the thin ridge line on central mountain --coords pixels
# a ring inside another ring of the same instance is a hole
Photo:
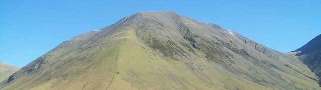
[[[110,89],[265,88],[249,81],[241,82],[235,78],[225,77],[214,71],[207,71],[208,74],[212,74],[211,83],[203,81],[191,72],[183,62],[165,58],[153,51],[152,48],[141,44],[133,29],[128,30],[127,35],[126,41],[121,45],[117,60],[119,74],[115,75]],[[204,60],[198,61],[206,64]]]

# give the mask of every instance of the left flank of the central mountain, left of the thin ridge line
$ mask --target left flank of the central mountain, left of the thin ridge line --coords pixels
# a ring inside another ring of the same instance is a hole
[[[63,42],[3,82],[3,89],[107,88],[123,39],[116,32],[97,39],[100,35],[91,35],[96,32]]]

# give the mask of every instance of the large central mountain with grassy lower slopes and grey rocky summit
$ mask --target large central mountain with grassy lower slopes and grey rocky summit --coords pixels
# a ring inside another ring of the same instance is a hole
[[[0,89],[321,89],[295,56],[172,11],[67,40]]]

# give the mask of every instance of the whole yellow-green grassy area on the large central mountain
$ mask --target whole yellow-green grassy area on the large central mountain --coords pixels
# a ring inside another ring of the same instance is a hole
[[[128,28],[130,29],[130,28]],[[145,46],[135,36],[133,29],[127,30],[123,36],[116,37],[114,44],[102,52],[88,58],[95,63],[73,61],[52,70],[50,73],[36,75],[32,81],[24,76],[21,81],[14,82],[3,89],[259,89],[266,88],[250,81],[236,78],[208,69],[206,72],[212,80],[204,81],[192,72],[185,63],[166,58],[161,53]],[[56,51],[52,54],[58,54]],[[108,53],[106,55],[106,53]],[[130,53],[130,54],[129,54]],[[68,56],[67,56],[68,57]],[[54,58],[54,57],[53,57]],[[208,62],[198,60],[204,65]],[[88,69],[74,72],[77,69]],[[116,64],[116,65],[115,65]],[[219,68],[219,67],[218,67]],[[119,73],[119,74],[118,74]],[[55,78],[50,75],[61,74],[65,77]],[[17,86],[16,84],[21,84]],[[249,85],[252,84],[252,85]],[[266,88],[267,89],[267,88]]]

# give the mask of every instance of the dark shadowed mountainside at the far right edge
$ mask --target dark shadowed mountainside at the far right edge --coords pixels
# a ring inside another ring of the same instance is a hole
[[[321,77],[321,35],[292,53],[298,56],[318,77]]]

